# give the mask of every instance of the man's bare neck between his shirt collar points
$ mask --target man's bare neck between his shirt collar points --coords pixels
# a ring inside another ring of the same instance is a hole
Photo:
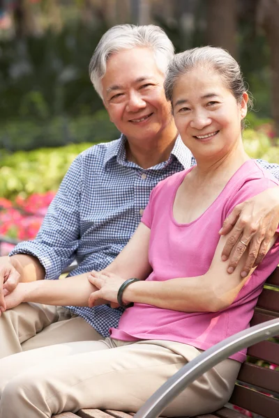
[[[160,135],[158,139],[148,141],[144,139],[141,144],[133,141],[126,142],[126,159],[135,162],[143,169],[154,167],[160,162],[167,161],[177,138],[176,128]]]

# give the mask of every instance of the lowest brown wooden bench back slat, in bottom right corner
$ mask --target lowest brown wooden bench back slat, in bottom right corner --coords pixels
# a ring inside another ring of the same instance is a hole
[[[265,418],[278,418],[279,400],[248,387],[236,385],[229,402]]]

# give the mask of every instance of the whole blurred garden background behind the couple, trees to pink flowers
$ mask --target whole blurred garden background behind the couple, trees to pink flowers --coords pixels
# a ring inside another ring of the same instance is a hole
[[[119,137],[88,74],[114,24],[227,49],[255,98],[246,149],[279,163],[278,21],[279,0],[0,0],[0,235],[33,238],[75,156]]]

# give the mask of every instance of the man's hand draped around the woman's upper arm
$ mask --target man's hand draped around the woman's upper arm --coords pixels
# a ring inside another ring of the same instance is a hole
[[[222,251],[222,260],[229,258],[227,272],[232,273],[248,248],[241,277],[258,265],[266,252],[279,223],[279,187],[267,189],[237,205],[225,219],[220,235],[229,233]]]

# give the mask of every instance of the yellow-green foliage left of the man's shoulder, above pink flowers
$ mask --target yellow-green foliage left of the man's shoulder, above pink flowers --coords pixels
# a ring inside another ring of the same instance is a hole
[[[0,160],[1,197],[25,199],[33,193],[56,191],[71,162],[93,144],[71,144],[61,148],[41,148],[29,153],[5,153]]]

